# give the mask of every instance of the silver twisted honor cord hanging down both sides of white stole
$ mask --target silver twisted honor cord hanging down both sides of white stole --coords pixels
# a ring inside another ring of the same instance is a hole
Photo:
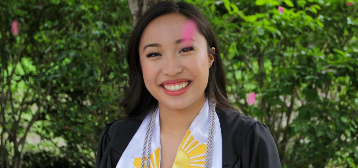
[[[212,154],[213,154],[213,143],[214,143],[214,132],[215,132],[215,124],[216,124],[216,112],[215,112],[216,102],[213,98],[209,98],[209,135],[208,135],[208,145],[206,148],[205,154],[205,168],[211,168],[212,163]],[[144,162],[146,168],[149,168],[149,159],[150,159],[150,144],[152,139],[152,132],[153,132],[153,125],[154,119],[156,115],[156,111],[158,110],[159,106],[155,108],[153,111],[148,126],[147,131],[145,133],[144,139],[144,147],[142,152],[142,159],[141,159],[141,168],[144,168]],[[148,136],[149,135],[149,136]],[[145,158],[145,152],[147,151],[147,160]]]

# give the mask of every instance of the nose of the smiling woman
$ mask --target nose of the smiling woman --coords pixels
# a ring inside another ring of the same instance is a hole
[[[178,56],[170,55],[164,60],[162,69],[164,75],[175,76],[177,73],[183,71],[183,66],[178,60]]]

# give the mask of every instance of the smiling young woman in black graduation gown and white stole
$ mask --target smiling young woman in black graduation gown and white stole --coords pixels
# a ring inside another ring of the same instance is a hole
[[[204,15],[162,1],[128,47],[127,118],[107,124],[96,168],[279,168],[265,124],[229,102],[217,41]]]

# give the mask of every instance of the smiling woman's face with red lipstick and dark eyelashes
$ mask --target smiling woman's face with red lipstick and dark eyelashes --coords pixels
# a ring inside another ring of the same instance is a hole
[[[196,27],[188,29],[188,21],[181,14],[160,16],[147,25],[139,44],[145,86],[159,106],[168,109],[184,109],[205,98],[209,68],[214,60],[213,55],[208,54],[204,36]],[[168,84],[167,80],[175,79],[179,81]]]

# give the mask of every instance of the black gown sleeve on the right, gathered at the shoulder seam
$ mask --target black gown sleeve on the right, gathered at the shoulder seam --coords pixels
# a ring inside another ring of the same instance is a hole
[[[253,124],[242,149],[241,168],[281,168],[275,140],[261,122]]]

